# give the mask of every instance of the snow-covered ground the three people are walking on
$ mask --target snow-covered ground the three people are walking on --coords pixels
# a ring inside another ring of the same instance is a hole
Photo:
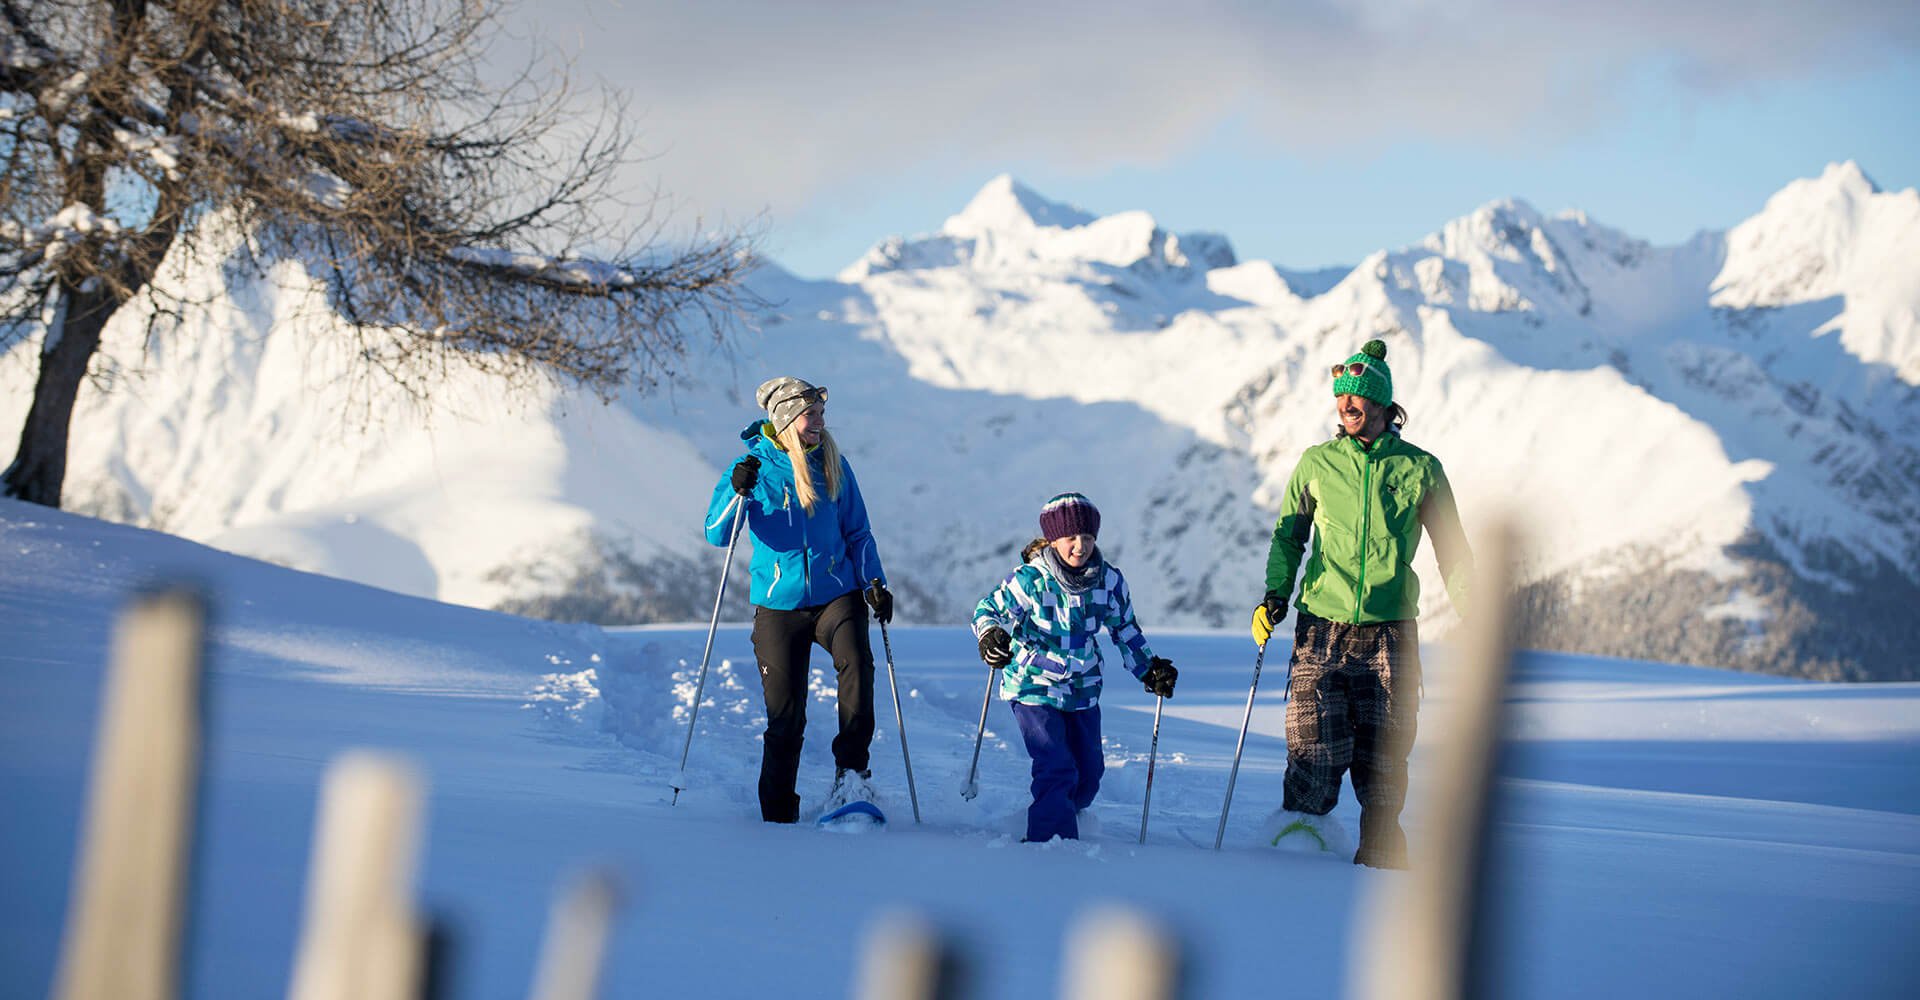
[[[1246,699],[1240,630],[1144,622],[1183,670],[1144,846],[1152,701],[1137,685],[1116,681],[1106,701],[1100,833],[1020,845],[1025,754],[1004,704],[979,798],[958,795],[987,681],[972,637],[893,630],[924,821],[881,679],[874,762],[895,823],[833,837],[756,820],[760,699],[739,624],[718,635],[695,785],[668,804],[705,624],[532,622],[0,501],[0,998],[52,981],[109,622],[161,578],[217,601],[188,965],[200,998],[284,994],[319,777],[349,747],[399,750],[432,781],[419,900],[449,921],[455,998],[524,996],[551,894],[603,864],[632,891],[607,996],[847,996],[866,935],[900,908],[966,942],[975,996],[1048,996],[1066,931],[1114,900],[1177,929],[1194,996],[1327,996],[1350,981],[1357,902],[1404,877],[1256,846],[1284,756],[1279,651],[1227,850],[1196,846],[1212,845]],[[1427,664],[1432,706],[1450,691],[1446,651]],[[1920,685],[1557,655],[1517,670],[1498,835],[1511,994],[1920,990]],[[816,693],[810,798],[831,772],[831,693]],[[1415,839],[1436,716],[1415,754]],[[1352,800],[1336,816],[1352,825]]]

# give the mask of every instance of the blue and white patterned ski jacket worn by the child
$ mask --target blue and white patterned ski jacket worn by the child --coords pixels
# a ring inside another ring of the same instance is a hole
[[[1127,578],[1112,564],[1092,587],[1071,593],[1043,557],[1014,570],[973,608],[973,635],[1000,626],[1014,639],[1014,660],[1000,676],[1000,699],[1079,712],[1100,704],[1100,630],[1135,678],[1146,676],[1154,651],[1133,620]]]

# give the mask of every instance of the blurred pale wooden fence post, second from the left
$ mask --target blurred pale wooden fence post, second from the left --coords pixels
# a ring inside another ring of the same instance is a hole
[[[326,772],[307,869],[292,1000],[413,1000],[426,933],[409,902],[422,781],[401,762],[349,752]]]

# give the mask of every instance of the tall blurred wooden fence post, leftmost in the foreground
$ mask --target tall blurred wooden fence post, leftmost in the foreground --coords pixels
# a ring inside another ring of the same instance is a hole
[[[200,777],[205,605],[134,601],[106,678],[86,820],[54,979],[61,1000],[165,1000],[180,988],[180,921]]]

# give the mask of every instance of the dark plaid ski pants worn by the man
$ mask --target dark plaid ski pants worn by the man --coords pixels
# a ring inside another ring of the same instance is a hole
[[[1415,622],[1352,626],[1300,612],[1290,672],[1286,808],[1325,816],[1352,770],[1361,841],[1404,843],[1400,808],[1421,697]]]

